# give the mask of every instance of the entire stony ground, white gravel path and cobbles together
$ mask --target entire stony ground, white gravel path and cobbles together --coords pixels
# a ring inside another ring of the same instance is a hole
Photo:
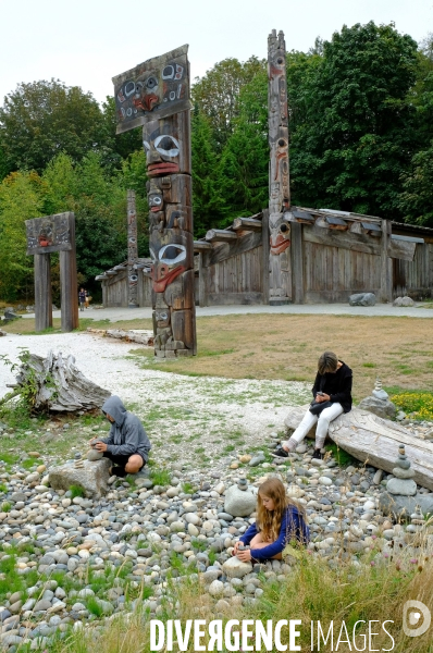
[[[140,606],[158,616],[168,579],[187,574],[201,583],[213,614],[253,604],[296,560],[227,568],[234,542],[255,520],[253,512],[238,517],[236,502],[226,503],[226,491],[239,478],[248,479],[248,493],[255,494],[268,475],[277,475],[288,495],[306,507],[309,554],[331,566],[342,560],[359,566],[363,553],[372,564],[391,556],[401,564],[418,562],[422,519],[396,525],[379,507],[391,475],[358,464],[341,468],[332,456],[312,460],[309,443],[288,459],[270,457],[287,407],[308,399],[305,384],[141,369],[127,355],[138,346],[89,334],[8,336],[0,340],[0,354],[16,360],[18,346],[41,355],[48,348],[73,353],[88,378],[132,404],[151,435],[153,466],[116,480],[102,500],[76,495],[76,489],[54,491],[48,475],[59,456],[50,447],[62,436],[59,430],[67,436],[67,423],[28,432],[38,456],[33,466],[28,453],[17,465],[0,463],[0,650],[13,653],[28,643],[44,651],[70,629]],[[12,381],[12,374],[2,374],[0,395]],[[433,439],[433,424],[409,419],[405,424],[412,434]],[[83,439],[107,430],[83,428]],[[16,451],[18,436],[0,424],[1,451]],[[71,441],[66,457],[73,461],[84,454],[82,442]],[[433,494],[419,492],[433,505]],[[423,551],[432,547],[429,526],[422,544]]]

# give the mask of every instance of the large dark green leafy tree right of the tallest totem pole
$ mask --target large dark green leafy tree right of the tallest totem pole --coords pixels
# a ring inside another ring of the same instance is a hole
[[[417,44],[393,24],[345,26],[323,44],[292,130],[294,202],[398,217],[416,71]]]

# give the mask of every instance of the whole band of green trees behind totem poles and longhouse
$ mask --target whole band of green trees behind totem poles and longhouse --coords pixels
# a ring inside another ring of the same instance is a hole
[[[433,226],[433,35],[344,26],[287,53],[294,204]],[[228,58],[193,85],[195,236],[268,206],[267,62]],[[140,128],[115,135],[113,98],[58,79],[0,107],[0,297],[32,296],[24,220],[74,211],[81,279],[126,257],[126,189],[148,254]],[[95,284],[95,288],[98,284]]]

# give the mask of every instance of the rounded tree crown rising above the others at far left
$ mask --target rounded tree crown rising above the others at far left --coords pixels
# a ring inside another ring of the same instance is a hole
[[[79,161],[100,149],[104,136],[92,95],[59,79],[20,84],[0,109],[0,148],[8,171],[42,172],[61,151]]]

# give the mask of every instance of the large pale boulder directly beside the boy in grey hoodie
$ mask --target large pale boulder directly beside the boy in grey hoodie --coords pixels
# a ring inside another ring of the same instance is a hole
[[[54,490],[69,490],[71,485],[83,488],[86,496],[99,498],[109,490],[111,460],[102,458],[91,463],[84,460],[82,467],[74,464],[50,469],[49,483]]]

